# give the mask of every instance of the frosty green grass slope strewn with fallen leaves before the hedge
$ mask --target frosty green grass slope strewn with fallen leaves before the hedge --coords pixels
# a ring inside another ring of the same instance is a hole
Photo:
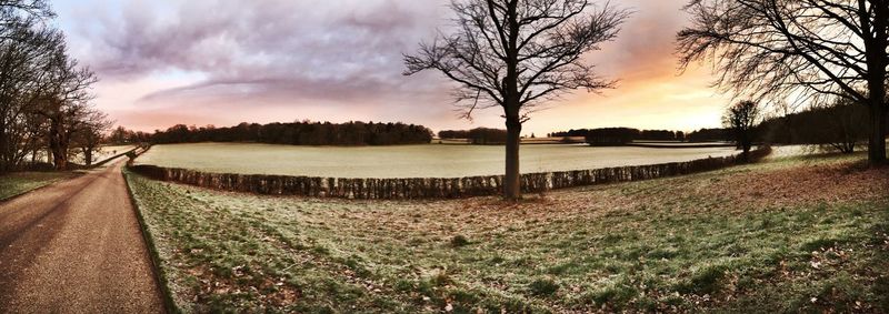
[[[790,158],[456,201],[254,196],[128,174],[186,311],[889,311],[889,169]]]

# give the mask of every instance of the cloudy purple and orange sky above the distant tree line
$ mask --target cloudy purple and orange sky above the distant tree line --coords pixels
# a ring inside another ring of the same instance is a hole
[[[585,58],[618,87],[553,101],[523,133],[719,126],[730,98],[710,87],[709,65],[680,73],[673,54],[687,0],[611,2],[633,13],[616,41]],[[129,129],[307,119],[502,129],[499,108],[460,119],[455,85],[441,74],[401,74],[402,54],[449,26],[447,3],[56,0],[52,7],[71,54],[100,79],[96,105]]]

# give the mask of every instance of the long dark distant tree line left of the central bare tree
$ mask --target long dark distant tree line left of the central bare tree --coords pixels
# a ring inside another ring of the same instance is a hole
[[[287,145],[403,145],[428,144],[432,131],[422,125],[373,122],[241,123],[230,128],[173,125],[156,131],[151,142],[257,142]]]

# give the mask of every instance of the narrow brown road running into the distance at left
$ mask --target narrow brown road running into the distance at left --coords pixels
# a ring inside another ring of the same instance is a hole
[[[0,313],[161,313],[120,169],[0,202]]]

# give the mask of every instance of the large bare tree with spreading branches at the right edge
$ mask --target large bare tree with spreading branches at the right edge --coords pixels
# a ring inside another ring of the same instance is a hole
[[[868,105],[868,160],[886,163],[889,1],[692,0],[687,10],[683,67],[712,60],[719,85],[755,100]]]

